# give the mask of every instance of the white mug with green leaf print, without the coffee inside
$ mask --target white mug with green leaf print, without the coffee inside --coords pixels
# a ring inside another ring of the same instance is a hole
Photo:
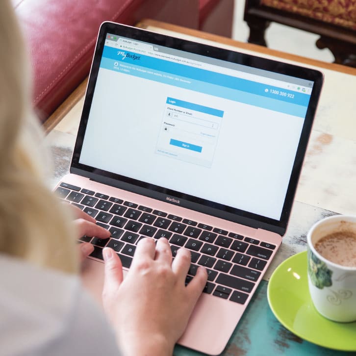
[[[335,215],[323,219],[307,235],[311,300],[321,315],[337,322],[356,321],[356,267],[327,260],[315,250],[315,244],[324,236],[345,230],[345,226],[356,233],[356,216]]]

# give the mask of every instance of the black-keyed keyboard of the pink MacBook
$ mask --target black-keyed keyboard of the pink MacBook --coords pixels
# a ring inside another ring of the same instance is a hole
[[[173,257],[180,247],[191,252],[191,265],[185,283],[205,266],[208,281],[203,292],[244,304],[260,277],[275,245],[238,233],[201,224],[154,210],[148,206],[109,197],[99,192],[62,182],[55,190],[97,220],[111,232],[108,239],[82,236],[79,241],[94,245],[92,257],[103,259],[102,249],[111,247],[129,268],[137,242],[144,237],[166,237]]]

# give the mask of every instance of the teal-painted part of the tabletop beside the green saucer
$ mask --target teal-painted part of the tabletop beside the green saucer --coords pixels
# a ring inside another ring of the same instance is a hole
[[[356,335],[355,335],[356,337]],[[176,346],[174,356],[203,354]],[[317,346],[285,329],[275,318],[267,302],[267,282],[262,280],[242,319],[233,332],[223,356],[349,356]]]

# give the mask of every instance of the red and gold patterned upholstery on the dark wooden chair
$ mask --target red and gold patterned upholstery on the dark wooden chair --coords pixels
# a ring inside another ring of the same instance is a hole
[[[261,5],[356,30],[356,0],[261,0]]]

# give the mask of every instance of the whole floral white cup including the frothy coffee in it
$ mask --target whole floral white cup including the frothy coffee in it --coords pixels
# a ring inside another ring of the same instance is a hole
[[[356,216],[335,215],[307,235],[311,300],[324,317],[356,321]]]

